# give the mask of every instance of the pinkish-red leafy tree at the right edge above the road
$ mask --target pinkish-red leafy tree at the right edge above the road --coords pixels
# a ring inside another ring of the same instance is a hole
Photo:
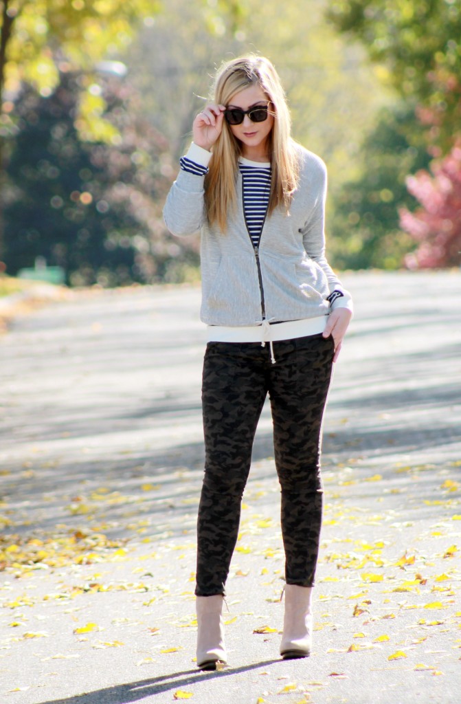
[[[419,171],[407,179],[408,190],[422,207],[413,213],[400,210],[400,227],[419,243],[405,257],[411,269],[461,263],[461,142],[432,164],[431,171],[433,176]]]

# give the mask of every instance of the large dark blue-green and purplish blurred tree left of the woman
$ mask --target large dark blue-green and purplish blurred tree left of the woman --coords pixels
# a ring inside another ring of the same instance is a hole
[[[118,144],[84,142],[75,127],[79,80],[63,73],[49,98],[30,87],[18,97],[7,171],[8,271],[42,256],[61,265],[71,284],[162,279],[170,260],[194,255],[163,237],[168,142],[131,108],[139,96],[130,84],[115,78],[103,86],[103,117],[120,134]]]

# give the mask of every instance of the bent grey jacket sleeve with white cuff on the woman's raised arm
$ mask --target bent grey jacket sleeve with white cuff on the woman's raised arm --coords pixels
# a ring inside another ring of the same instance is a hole
[[[177,237],[194,234],[203,225],[203,180],[208,172],[210,158],[210,151],[193,142],[186,156],[181,159],[181,169],[163,208],[165,225]]]

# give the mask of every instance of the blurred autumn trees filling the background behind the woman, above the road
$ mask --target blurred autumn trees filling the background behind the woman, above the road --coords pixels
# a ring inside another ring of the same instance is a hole
[[[459,267],[458,0],[0,0],[0,292],[199,279],[162,219],[223,59],[274,63],[339,269]]]

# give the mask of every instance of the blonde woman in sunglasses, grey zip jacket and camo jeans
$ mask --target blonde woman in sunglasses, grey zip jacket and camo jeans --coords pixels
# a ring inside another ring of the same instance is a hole
[[[208,344],[195,593],[203,670],[227,660],[225,582],[267,394],[286,557],[280,653],[302,658],[311,647],[322,416],[352,304],[324,256],[324,163],[291,139],[290,127],[270,61],[225,63],[213,99],[194,120],[193,143],[164,210],[173,234],[201,230]]]

